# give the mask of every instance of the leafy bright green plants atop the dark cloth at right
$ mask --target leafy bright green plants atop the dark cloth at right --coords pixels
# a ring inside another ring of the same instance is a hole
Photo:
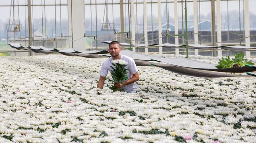
[[[226,58],[221,58],[218,62],[218,65],[215,66],[217,68],[236,68],[236,67],[244,67],[246,64],[254,65],[253,62],[247,62],[247,59],[244,59],[244,54],[241,52],[240,54],[235,53],[235,58],[230,59],[229,56]]]

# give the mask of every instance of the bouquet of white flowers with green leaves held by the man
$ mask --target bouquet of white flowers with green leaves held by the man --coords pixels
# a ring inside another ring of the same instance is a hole
[[[125,77],[127,73],[127,69],[125,69],[126,62],[121,59],[116,59],[116,60],[113,60],[112,64],[114,67],[113,66],[110,66],[110,67],[113,69],[113,71],[111,72],[113,81],[112,80],[110,81],[112,81],[113,84],[114,83],[122,84],[121,80]],[[114,85],[112,85],[110,89],[113,91],[118,91],[118,89],[116,89]],[[125,89],[122,89],[122,90],[125,90]]]

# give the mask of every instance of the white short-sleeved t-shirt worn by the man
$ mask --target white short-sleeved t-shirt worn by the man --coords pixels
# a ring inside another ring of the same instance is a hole
[[[121,81],[121,82],[125,82],[128,79],[131,79],[133,74],[137,73],[138,69],[137,69],[136,64],[134,62],[134,59],[132,59],[132,58],[130,58],[128,56],[125,56],[125,55],[121,55],[121,59],[124,60],[127,63],[126,64],[126,69],[128,69],[128,70],[127,70],[126,75],[127,75],[128,78],[123,80],[123,81]],[[99,72],[100,76],[106,77],[108,75],[108,71],[111,72],[113,70],[110,67],[110,66],[113,66],[112,61],[113,61],[113,58],[110,57],[105,62],[103,62],[102,68],[101,68],[101,70]],[[136,92],[137,84],[134,82],[132,84],[125,85],[124,87],[121,87],[120,89],[125,89],[124,91],[127,92],[127,93],[134,93],[134,92]]]

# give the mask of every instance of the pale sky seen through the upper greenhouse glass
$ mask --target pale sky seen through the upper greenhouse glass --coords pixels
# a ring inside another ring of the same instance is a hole
[[[61,4],[67,4],[67,0],[32,0],[32,3],[34,5],[41,5],[41,3],[44,1],[46,4],[51,4],[54,5],[55,2],[57,5],[59,5],[59,3],[61,2]],[[85,0],[85,3],[88,3],[89,0]],[[108,17],[110,20],[112,20],[113,16],[114,17],[120,17],[120,7],[119,5],[114,5],[114,7],[112,8],[112,0],[108,0],[108,3],[111,3],[108,6]],[[118,2],[119,0],[113,0],[114,2]],[[136,1],[136,0],[134,0]],[[142,2],[142,0],[137,0],[138,2]],[[153,2],[157,1],[157,0],[152,0]],[[165,0],[163,0],[165,1]],[[169,0],[170,2],[173,0]],[[17,2],[19,2],[19,5],[24,5],[27,4],[27,0],[15,0],[15,5],[17,5]],[[148,0],[148,2],[151,2],[151,0]],[[243,0],[240,1],[241,2],[241,11],[243,10],[242,7],[242,2]],[[105,3],[105,0],[97,0],[97,3]],[[0,0],[0,20],[9,20],[10,17],[10,7],[5,7],[6,5],[10,5],[11,4],[11,0]],[[151,8],[151,4],[147,5],[147,11],[148,11],[148,18],[151,17],[151,9],[152,9],[152,14],[153,16],[157,17],[157,3],[152,5],[153,7]],[[256,6],[256,0],[249,0],[249,10],[251,13],[256,14],[256,8],[254,8],[254,6]],[[92,5],[92,14],[91,14],[91,10],[90,10],[90,6],[86,5],[85,6],[85,14],[84,16],[86,18],[90,18],[91,15],[92,17],[95,17],[95,5]],[[164,15],[164,13],[166,13],[164,11],[164,7],[166,7],[165,3],[161,4],[162,7],[162,15]],[[184,5],[183,5],[184,7]],[[138,4],[137,5],[138,8],[138,17],[142,17],[143,16],[143,4]],[[199,8],[199,3],[198,3],[198,8]],[[201,2],[200,3],[200,12],[201,14],[205,14],[207,15],[210,12],[211,6],[210,6],[210,2]],[[229,1],[229,11],[232,10],[239,10],[239,0],[236,1]],[[105,9],[105,5],[97,5],[97,17],[103,19],[103,15],[104,15],[104,9]],[[124,9],[126,10],[126,15],[128,15],[128,7],[127,5],[124,7]],[[182,14],[182,9],[181,8],[181,3],[178,3],[178,16],[181,16]],[[113,10],[113,11],[112,11]],[[135,5],[135,10],[136,10],[136,5]],[[55,19],[55,6],[46,6],[46,17],[47,19]],[[227,1],[221,1],[221,12],[227,11]],[[136,11],[134,11],[136,13]],[[26,13],[26,14],[25,14]],[[193,3],[192,2],[188,2],[187,3],[187,13],[188,15],[193,15]],[[198,11],[199,13],[199,11]],[[42,18],[42,7],[41,6],[35,6],[32,9],[32,14],[34,18]],[[18,15],[20,15],[20,19],[25,19],[25,16],[27,18],[27,8],[25,9],[25,6],[19,6],[19,14],[18,14],[18,8],[15,7],[15,20],[17,21],[18,19]],[[174,17],[174,6],[173,3],[169,3],[169,15],[171,17]],[[11,17],[13,18],[13,9],[11,12]],[[43,7],[43,17],[44,17],[44,7]],[[67,18],[67,6],[61,6],[61,11],[60,11],[60,6],[56,6],[56,20],[59,21],[61,18]],[[11,18],[11,19],[12,19]]]

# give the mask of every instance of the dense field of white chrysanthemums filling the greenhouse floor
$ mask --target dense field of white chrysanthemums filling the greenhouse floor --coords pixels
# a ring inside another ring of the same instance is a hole
[[[256,142],[256,78],[138,67],[137,93],[112,92],[107,80],[98,95],[105,60],[0,57],[0,143]]]

